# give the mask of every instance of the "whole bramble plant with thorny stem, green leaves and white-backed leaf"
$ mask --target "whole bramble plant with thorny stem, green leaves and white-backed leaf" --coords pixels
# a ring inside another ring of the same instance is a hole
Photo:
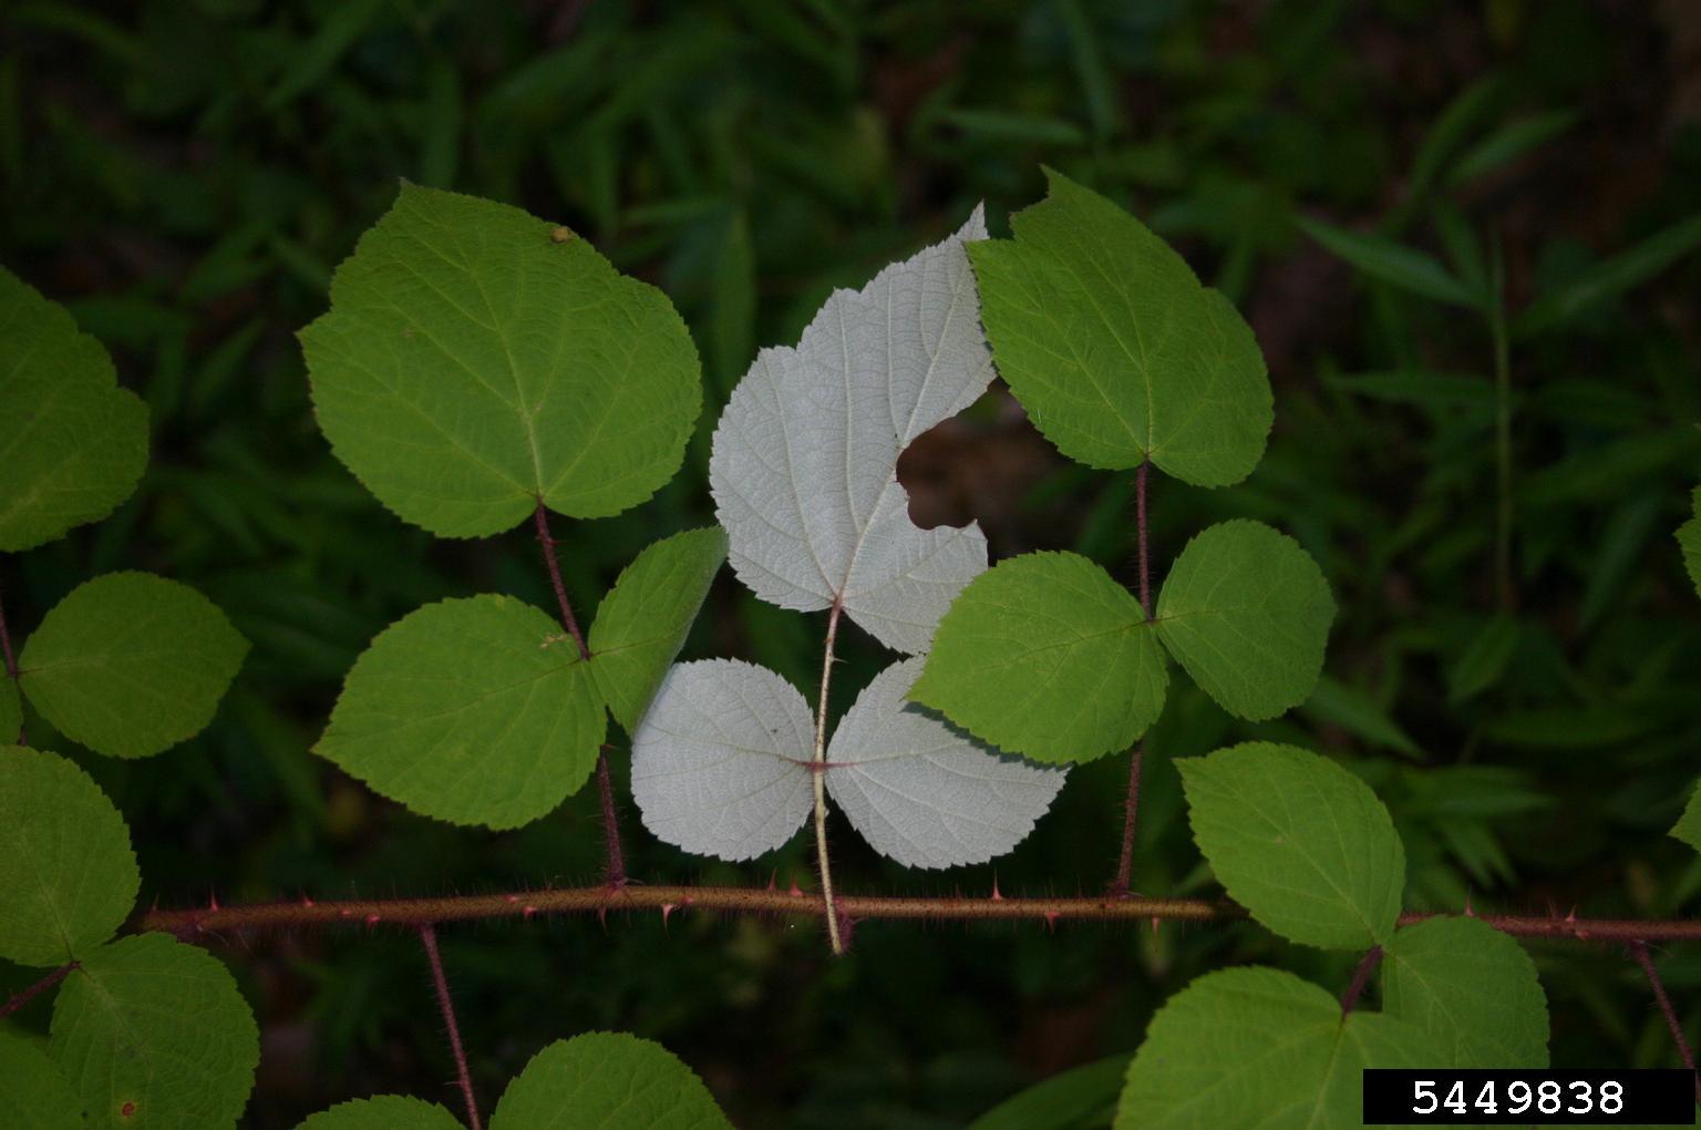
[[[51,970],[0,1016],[56,994],[46,1040],[0,1028],[7,1125],[235,1125],[259,1031],[228,970],[194,943],[357,924],[417,933],[476,1130],[439,926],[611,909],[816,917],[833,953],[854,945],[857,922],[885,917],[1153,929],[1250,917],[1288,943],[1357,962],[1340,999],[1277,968],[1204,973],[1157,1013],[1126,1065],[1048,1081],[983,1127],[1061,1125],[1044,1120],[1065,1094],[1116,1096],[1114,1125],[1126,1130],[1352,1127],[1366,1067],[1546,1067],[1548,1004],[1519,936],[1626,946],[1692,1069],[1648,943],[1698,938],[1701,922],[1408,912],[1405,844],[1371,783],[1294,744],[1175,761],[1192,839],[1226,900],[1131,890],[1143,739],[1163,711],[1170,660],[1225,711],[1271,720],[1318,691],[1337,609],[1301,543],[1247,519],[1194,531],[1153,596],[1152,470],[1201,488],[1245,480],[1272,427],[1264,359],[1228,298],[1167,243],[1106,197],[1048,177],[1046,199],[1012,216],[1012,238],[988,238],[976,208],[954,235],[832,293],[796,345],[760,351],[709,439],[720,526],[638,551],[589,631],[568,599],[551,516],[612,516],[675,477],[703,403],[697,351],[662,291],[616,271],[575,231],[403,185],[335,272],[330,310],[301,330],[318,424],[401,521],[439,538],[526,529],[556,606],[481,594],[408,613],[349,671],[315,749],[412,812],[488,829],[541,820],[594,776],[602,883],[213,902],[148,910],[119,936],[139,890],[129,829],[83,769],[29,742],[26,703],[95,754],[146,757],[209,723],[248,643],[204,596],[141,572],[87,580],[15,653],[0,614],[0,735],[17,739],[0,749],[0,958]],[[1439,265],[1386,248],[1378,259],[1371,243],[1313,231],[1373,274],[1458,298]],[[1495,289],[1490,310],[1504,325],[1499,301]],[[66,311],[3,272],[0,340],[0,405],[15,422],[0,439],[0,550],[24,551],[100,521],[134,488],[146,408]],[[900,454],[995,376],[1063,454],[1131,471],[1136,592],[1075,553],[988,567],[975,522],[924,529],[912,519]],[[1698,517],[1677,539],[1701,591],[1701,490],[1694,502]],[[825,611],[813,706],[767,667],[675,664],[723,562],[772,606]],[[1497,568],[1504,580],[1504,558]],[[830,728],[837,643],[852,623],[896,659]],[[629,739],[633,800],[655,837],[745,861],[813,822],[816,892],[631,876],[611,716]],[[1121,750],[1123,839],[1102,895],[903,897],[833,883],[833,812],[903,866],[983,863],[1044,819],[1070,764]],[[1674,836],[1701,848],[1696,800]],[[1374,1011],[1361,1007],[1373,980]],[[425,1099],[376,1096],[301,1125],[461,1121]],[[488,1125],[638,1130],[726,1118],[660,1045],[585,1033],[539,1050]]]

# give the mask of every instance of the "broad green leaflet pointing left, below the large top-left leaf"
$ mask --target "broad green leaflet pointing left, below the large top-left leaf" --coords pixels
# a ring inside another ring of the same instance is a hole
[[[585,783],[604,730],[590,664],[561,625],[475,596],[384,628],[315,750],[413,812],[509,829]]]

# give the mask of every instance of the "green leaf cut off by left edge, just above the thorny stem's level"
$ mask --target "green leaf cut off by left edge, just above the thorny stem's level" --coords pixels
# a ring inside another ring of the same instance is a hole
[[[82,958],[124,924],[139,885],[129,827],[87,773],[0,747],[0,958]]]

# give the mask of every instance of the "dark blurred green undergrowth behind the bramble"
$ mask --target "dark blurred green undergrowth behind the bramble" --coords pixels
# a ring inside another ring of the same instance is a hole
[[[143,902],[599,878],[594,790],[519,832],[459,830],[308,752],[391,619],[481,591],[548,608],[524,531],[432,541],[313,424],[293,332],[400,179],[568,223],[691,323],[708,408],[684,473],[619,519],[558,522],[589,619],[636,550],[713,521],[708,432],[755,349],[978,199],[1004,230],[1043,192],[1041,163],[1175,242],[1269,359],[1277,422],[1252,480],[1153,480],[1158,575],[1209,521],[1252,516],[1310,548],[1342,608],[1328,677],[1291,716],[1245,725],[1170,696],[1135,887],[1215,892],[1169,761],[1264,735],[1374,785],[1414,907],[1701,914],[1701,865],[1664,837],[1701,769],[1701,604],[1670,536],[1701,478],[1691,0],[5,3],[0,257],[107,344],[155,429],[112,521],[0,560],[7,611],[27,631],[78,580],[141,567],[201,587],[255,645],[201,739],[82,757],[136,830]],[[1334,237],[1366,269],[1313,220],[1371,237]],[[1504,276],[1505,585],[1502,306],[1449,301],[1432,267],[1473,293]],[[1007,395],[900,470],[927,524],[978,517],[998,555],[1075,548],[1131,579],[1129,477],[1068,465]],[[687,657],[752,657],[808,688],[820,631],[723,574]],[[885,662],[861,636],[847,655],[840,708]],[[1126,757],[1077,769],[995,866],[905,873],[840,834],[840,883],[1097,892],[1124,773]],[[735,868],[657,844],[629,802],[624,832],[657,882],[811,882],[803,836]],[[250,1125],[373,1091],[452,1103],[410,934],[213,948],[262,1024]],[[873,922],[832,962],[806,926],[611,914],[456,926],[442,948],[486,1104],[546,1042],[623,1028],[692,1064],[738,1125],[823,1130],[964,1125],[1129,1053],[1206,968],[1266,962],[1335,987],[1351,972],[1254,927]],[[1558,1065],[1675,1064],[1623,955],[1533,948]],[[1662,967],[1701,1035],[1701,953]],[[0,989],[29,979],[0,967]],[[1089,1101],[1068,1125],[1102,1123]]]

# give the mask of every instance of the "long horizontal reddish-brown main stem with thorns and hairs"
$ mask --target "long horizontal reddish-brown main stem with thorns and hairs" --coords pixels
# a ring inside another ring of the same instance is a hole
[[[1099,922],[1235,922],[1247,912],[1232,902],[1206,899],[1012,899],[993,897],[913,897],[913,895],[842,895],[839,914],[857,919],[929,919],[929,921],[1041,921],[1060,919]],[[136,921],[136,929],[163,929],[182,938],[218,931],[269,929],[294,926],[420,926],[468,919],[529,919],[539,914],[602,914],[616,910],[718,910],[726,914],[782,914],[823,917],[827,904],[801,890],[760,887],[646,887],[629,885],[616,893],[607,887],[563,887],[490,895],[449,895],[441,899],[356,899],[347,902],[272,902],[260,905],[221,905],[191,910],[150,910]],[[1431,914],[1402,914],[1410,926]],[[1555,938],[1573,941],[1701,941],[1701,919],[1580,919],[1575,916],[1478,914],[1478,921],[1517,938]]]

